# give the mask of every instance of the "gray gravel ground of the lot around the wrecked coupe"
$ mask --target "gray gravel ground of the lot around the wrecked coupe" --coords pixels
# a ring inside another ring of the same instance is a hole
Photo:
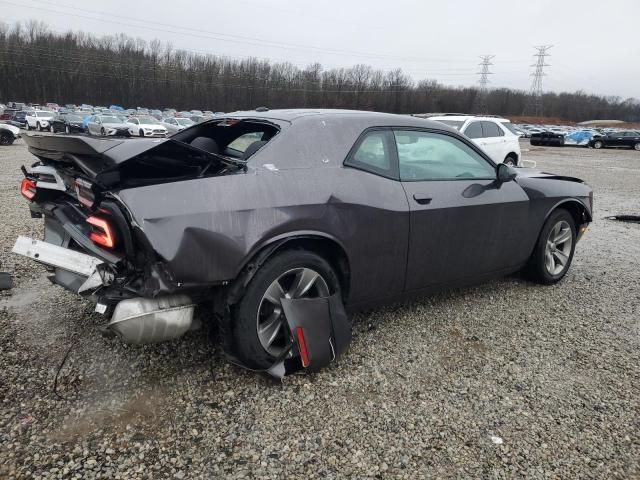
[[[640,155],[525,156],[595,190],[563,282],[514,276],[358,314],[338,364],[276,382],[202,332],[103,338],[88,302],[10,253],[42,229],[18,191],[32,157],[1,148],[0,261],[16,286],[0,294],[0,477],[640,477],[640,226],[604,219],[640,213]]]

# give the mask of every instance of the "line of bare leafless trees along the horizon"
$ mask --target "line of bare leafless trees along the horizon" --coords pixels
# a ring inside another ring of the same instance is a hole
[[[428,72],[427,72],[428,73]],[[325,70],[258,58],[233,59],[175,49],[123,34],[56,33],[40,22],[0,23],[0,100],[59,104],[173,107],[234,111],[269,108],[350,108],[393,113],[523,114],[528,92],[415,82],[401,69],[367,65]],[[547,92],[544,114],[566,120],[640,121],[637,99]]]

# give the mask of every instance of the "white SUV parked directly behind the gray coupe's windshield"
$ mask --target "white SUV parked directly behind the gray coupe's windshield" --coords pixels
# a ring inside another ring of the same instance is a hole
[[[520,142],[506,118],[473,115],[443,115],[428,117],[459,130],[478,145],[495,163],[519,165]]]

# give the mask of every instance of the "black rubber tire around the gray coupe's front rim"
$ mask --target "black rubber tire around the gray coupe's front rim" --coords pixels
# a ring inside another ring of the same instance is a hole
[[[569,259],[567,263],[564,265],[564,268],[561,272],[552,274],[549,272],[545,265],[545,252],[547,248],[547,240],[549,239],[549,235],[552,229],[559,222],[567,222],[569,224],[571,230],[571,252],[569,254]],[[576,249],[576,224],[571,216],[571,214],[563,209],[559,208],[549,215],[547,221],[544,223],[542,227],[542,231],[540,232],[540,236],[538,237],[538,241],[536,242],[536,246],[533,250],[533,254],[529,259],[529,263],[525,268],[525,273],[527,276],[543,285],[552,285],[554,283],[559,282],[566,275],[567,271],[571,267],[571,262],[573,261],[573,254]]]

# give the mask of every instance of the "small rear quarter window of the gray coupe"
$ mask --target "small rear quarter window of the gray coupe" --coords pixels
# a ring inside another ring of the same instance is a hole
[[[389,130],[369,131],[356,143],[345,164],[383,177],[397,178],[392,162],[392,148]]]

